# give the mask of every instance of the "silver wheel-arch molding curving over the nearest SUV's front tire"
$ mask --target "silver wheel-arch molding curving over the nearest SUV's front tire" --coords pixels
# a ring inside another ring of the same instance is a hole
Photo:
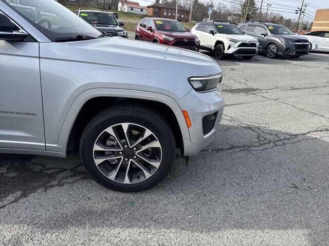
[[[176,116],[182,134],[182,139],[190,139],[189,130],[186,126],[186,121],[184,116],[182,115],[181,108],[173,98],[154,92],[126,90],[126,89],[98,88],[98,89],[87,90],[81,93],[76,98],[64,120],[62,129],[60,131],[58,143],[56,145],[46,144],[47,151],[62,152],[62,153],[66,152],[69,135],[80,110],[89,99],[95,97],[137,98],[137,99],[158,101],[159,103],[166,104],[174,112]]]

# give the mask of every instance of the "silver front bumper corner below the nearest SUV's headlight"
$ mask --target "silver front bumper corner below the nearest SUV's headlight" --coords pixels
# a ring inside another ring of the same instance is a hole
[[[199,93],[192,89],[178,101],[178,105],[188,112],[192,123],[190,139],[183,139],[184,155],[194,156],[209,144],[217,131],[224,111],[224,98],[219,90]],[[203,119],[214,113],[216,119],[213,127],[205,133]]]

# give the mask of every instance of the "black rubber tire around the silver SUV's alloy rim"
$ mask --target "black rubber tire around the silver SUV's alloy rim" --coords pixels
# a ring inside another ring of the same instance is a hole
[[[95,165],[93,147],[96,139],[106,128],[123,122],[148,128],[161,145],[162,156],[158,169],[141,182],[124,184],[111,180]],[[175,138],[168,121],[155,110],[143,105],[123,104],[101,111],[89,122],[81,137],[80,156],[87,171],[100,185],[115,191],[141,191],[155,186],[169,173],[175,159]]]

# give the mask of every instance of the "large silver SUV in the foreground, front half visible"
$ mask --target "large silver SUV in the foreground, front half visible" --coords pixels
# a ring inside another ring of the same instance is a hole
[[[222,69],[184,49],[102,34],[53,0],[0,0],[0,153],[66,157],[118,191],[166,177],[220,123]],[[43,20],[43,23],[45,20]]]

